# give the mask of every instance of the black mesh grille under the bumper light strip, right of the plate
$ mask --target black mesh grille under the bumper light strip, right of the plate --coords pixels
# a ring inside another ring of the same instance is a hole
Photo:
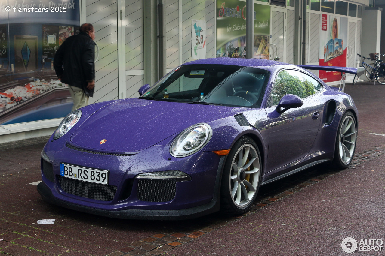
[[[175,180],[138,179],[137,197],[147,202],[167,202],[175,198]]]

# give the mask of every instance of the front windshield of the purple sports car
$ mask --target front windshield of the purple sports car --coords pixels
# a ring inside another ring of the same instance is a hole
[[[140,98],[259,108],[269,72],[231,65],[179,66]]]

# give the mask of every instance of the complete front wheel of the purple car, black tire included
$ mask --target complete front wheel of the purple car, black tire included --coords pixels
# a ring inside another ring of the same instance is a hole
[[[223,213],[239,215],[248,211],[258,194],[261,169],[258,146],[250,137],[241,137],[231,148],[224,165],[220,204]]]

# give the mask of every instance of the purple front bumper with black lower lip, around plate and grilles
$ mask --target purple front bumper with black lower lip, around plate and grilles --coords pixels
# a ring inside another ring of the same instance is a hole
[[[165,145],[154,146],[132,156],[115,157],[80,152],[67,146],[54,150],[49,144],[45,152],[48,151],[47,155],[50,156],[49,165],[52,166],[53,175],[51,177],[45,175],[47,170],[44,170],[45,160],[42,160],[43,182],[38,186],[38,191],[50,203],[86,213],[122,219],[188,219],[219,210],[218,191],[224,156],[219,157],[212,152],[200,151],[185,159],[169,160],[169,148]],[[148,159],[156,159],[156,161],[149,163]],[[63,187],[63,177],[60,176],[61,162],[109,170],[109,185],[117,189],[115,196],[112,199],[100,201],[70,193]],[[138,194],[139,183],[135,178],[136,175],[146,171],[163,170],[184,171],[192,177],[192,180],[177,182],[176,196],[172,200],[142,201]],[[127,188],[130,188],[131,192],[129,196],[124,197],[122,195],[127,193]]]

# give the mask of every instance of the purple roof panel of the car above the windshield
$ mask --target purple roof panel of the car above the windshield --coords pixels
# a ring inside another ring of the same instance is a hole
[[[264,60],[264,59],[246,59],[246,58],[208,58],[201,60],[194,60],[191,62],[184,63],[182,65],[191,65],[191,64],[220,64],[220,65],[235,65],[235,66],[251,66],[256,68],[267,69],[269,66],[273,65],[289,65],[283,62],[277,62],[275,60]]]

